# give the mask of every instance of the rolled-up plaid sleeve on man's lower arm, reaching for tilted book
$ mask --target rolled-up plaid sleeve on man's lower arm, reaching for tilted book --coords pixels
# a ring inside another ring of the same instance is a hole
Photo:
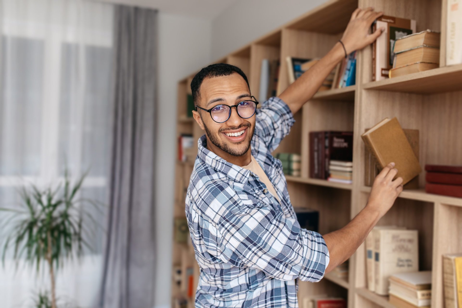
[[[219,222],[220,260],[280,280],[316,282],[329,263],[324,238],[272,208],[243,207]]]

